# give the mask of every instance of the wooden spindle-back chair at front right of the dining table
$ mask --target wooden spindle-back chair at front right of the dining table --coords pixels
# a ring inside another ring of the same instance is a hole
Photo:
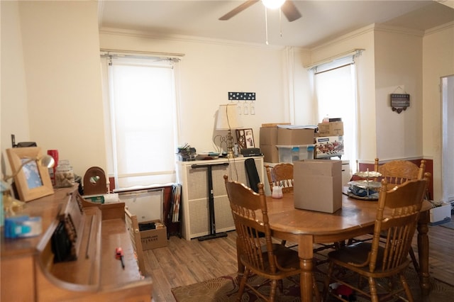
[[[387,179],[382,180],[372,242],[356,242],[328,253],[323,301],[328,296],[343,300],[330,288],[333,283],[348,286],[373,302],[379,301],[379,296],[387,299],[401,292],[413,301],[404,272],[410,263],[409,249],[429,178],[430,174],[426,173],[424,179],[409,180],[390,190],[387,190]],[[399,277],[401,286],[392,284],[390,277],[394,276]],[[362,279],[368,281],[366,286]]]

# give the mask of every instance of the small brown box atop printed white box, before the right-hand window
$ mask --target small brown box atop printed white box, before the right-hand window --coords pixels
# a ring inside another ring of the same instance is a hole
[[[315,158],[341,157],[343,146],[343,123],[331,121],[319,123],[319,133],[315,144]]]

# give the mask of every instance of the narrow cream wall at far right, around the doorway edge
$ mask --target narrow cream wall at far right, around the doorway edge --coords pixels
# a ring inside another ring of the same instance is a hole
[[[423,154],[433,159],[434,201],[441,200],[440,78],[450,74],[454,74],[454,23],[433,28],[423,38]]]

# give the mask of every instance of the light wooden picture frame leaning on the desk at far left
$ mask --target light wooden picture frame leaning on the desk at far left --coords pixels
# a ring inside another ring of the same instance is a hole
[[[47,167],[38,164],[43,157],[40,147],[6,149],[21,201],[31,201],[54,193]],[[24,164],[25,163],[25,164]]]

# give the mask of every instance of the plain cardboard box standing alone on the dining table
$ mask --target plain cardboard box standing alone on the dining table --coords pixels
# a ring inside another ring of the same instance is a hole
[[[300,160],[293,163],[294,207],[334,213],[342,208],[342,161]]]

